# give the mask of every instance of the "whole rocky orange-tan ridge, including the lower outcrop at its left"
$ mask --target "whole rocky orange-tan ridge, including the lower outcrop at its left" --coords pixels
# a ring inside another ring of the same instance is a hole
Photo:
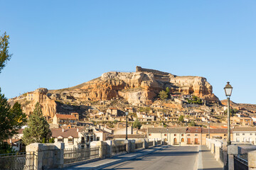
[[[160,72],[154,69],[137,67],[136,72],[106,72],[97,79],[92,79],[78,86],[68,89],[47,90],[38,89],[33,93],[33,100],[19,96],[26,113],[31,113],[36,102],[41,103],[44,115],[53,117],[60,113],[60,103],[75,101],[77,106],[87,101],[110,101],[119,98],[129,104],[142,103],[150,105],[158,98],[159,91],[169,87],[171,94],[192,94],[209,103],[218,103],[218,98],[213,94],[213,87],[204,77],[178,77],[174,74]],[[64,102],[65,101],[65,102]],[[73,108],[70,108],[70,111]],[[79,111],[78,111],[79,112]]]

